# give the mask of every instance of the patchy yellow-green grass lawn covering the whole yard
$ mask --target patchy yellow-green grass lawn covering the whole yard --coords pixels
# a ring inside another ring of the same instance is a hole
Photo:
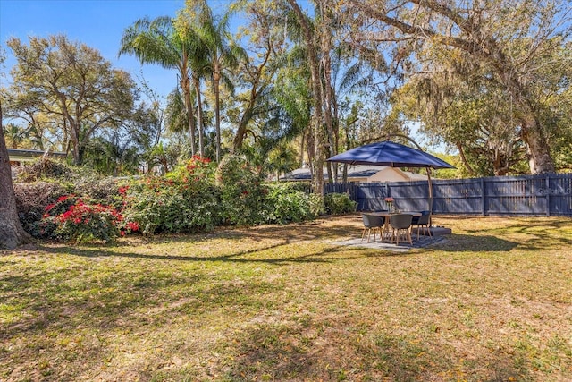
[[[572,380],[572,220],[361,218],[0,251],[0,380]]]

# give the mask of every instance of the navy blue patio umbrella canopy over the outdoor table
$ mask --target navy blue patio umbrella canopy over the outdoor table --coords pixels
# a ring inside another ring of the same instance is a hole
[[[456,168],[438,157],[400,143],[384,140],[370,143],[326,159],[328,162],[350,165],[379,165],[391,167]]]

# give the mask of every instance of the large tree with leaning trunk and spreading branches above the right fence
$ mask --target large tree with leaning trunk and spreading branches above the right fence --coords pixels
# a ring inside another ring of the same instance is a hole
[[[345,4],[339,9],[356,15],[354,42],[387,48],[406,78],[431,77],[442,70],[442,62],[430,54],[435,50],[456,55],[465,71],[486,73],[488,81],[501,85],[515,109],[531,172],[554,171],[553,123],[544,112],[555,95],[568,89],[568,73],[563,71],[568,71],[570,55],[555,55],[569,45],[568,1],[349,0]]]

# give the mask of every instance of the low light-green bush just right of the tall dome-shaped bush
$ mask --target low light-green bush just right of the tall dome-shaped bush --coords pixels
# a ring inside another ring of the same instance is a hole
[[[323,210],[320,196],[299,191],[292,183],[273,184],[267,204],[267,222],[280,225],[314,219]]]

